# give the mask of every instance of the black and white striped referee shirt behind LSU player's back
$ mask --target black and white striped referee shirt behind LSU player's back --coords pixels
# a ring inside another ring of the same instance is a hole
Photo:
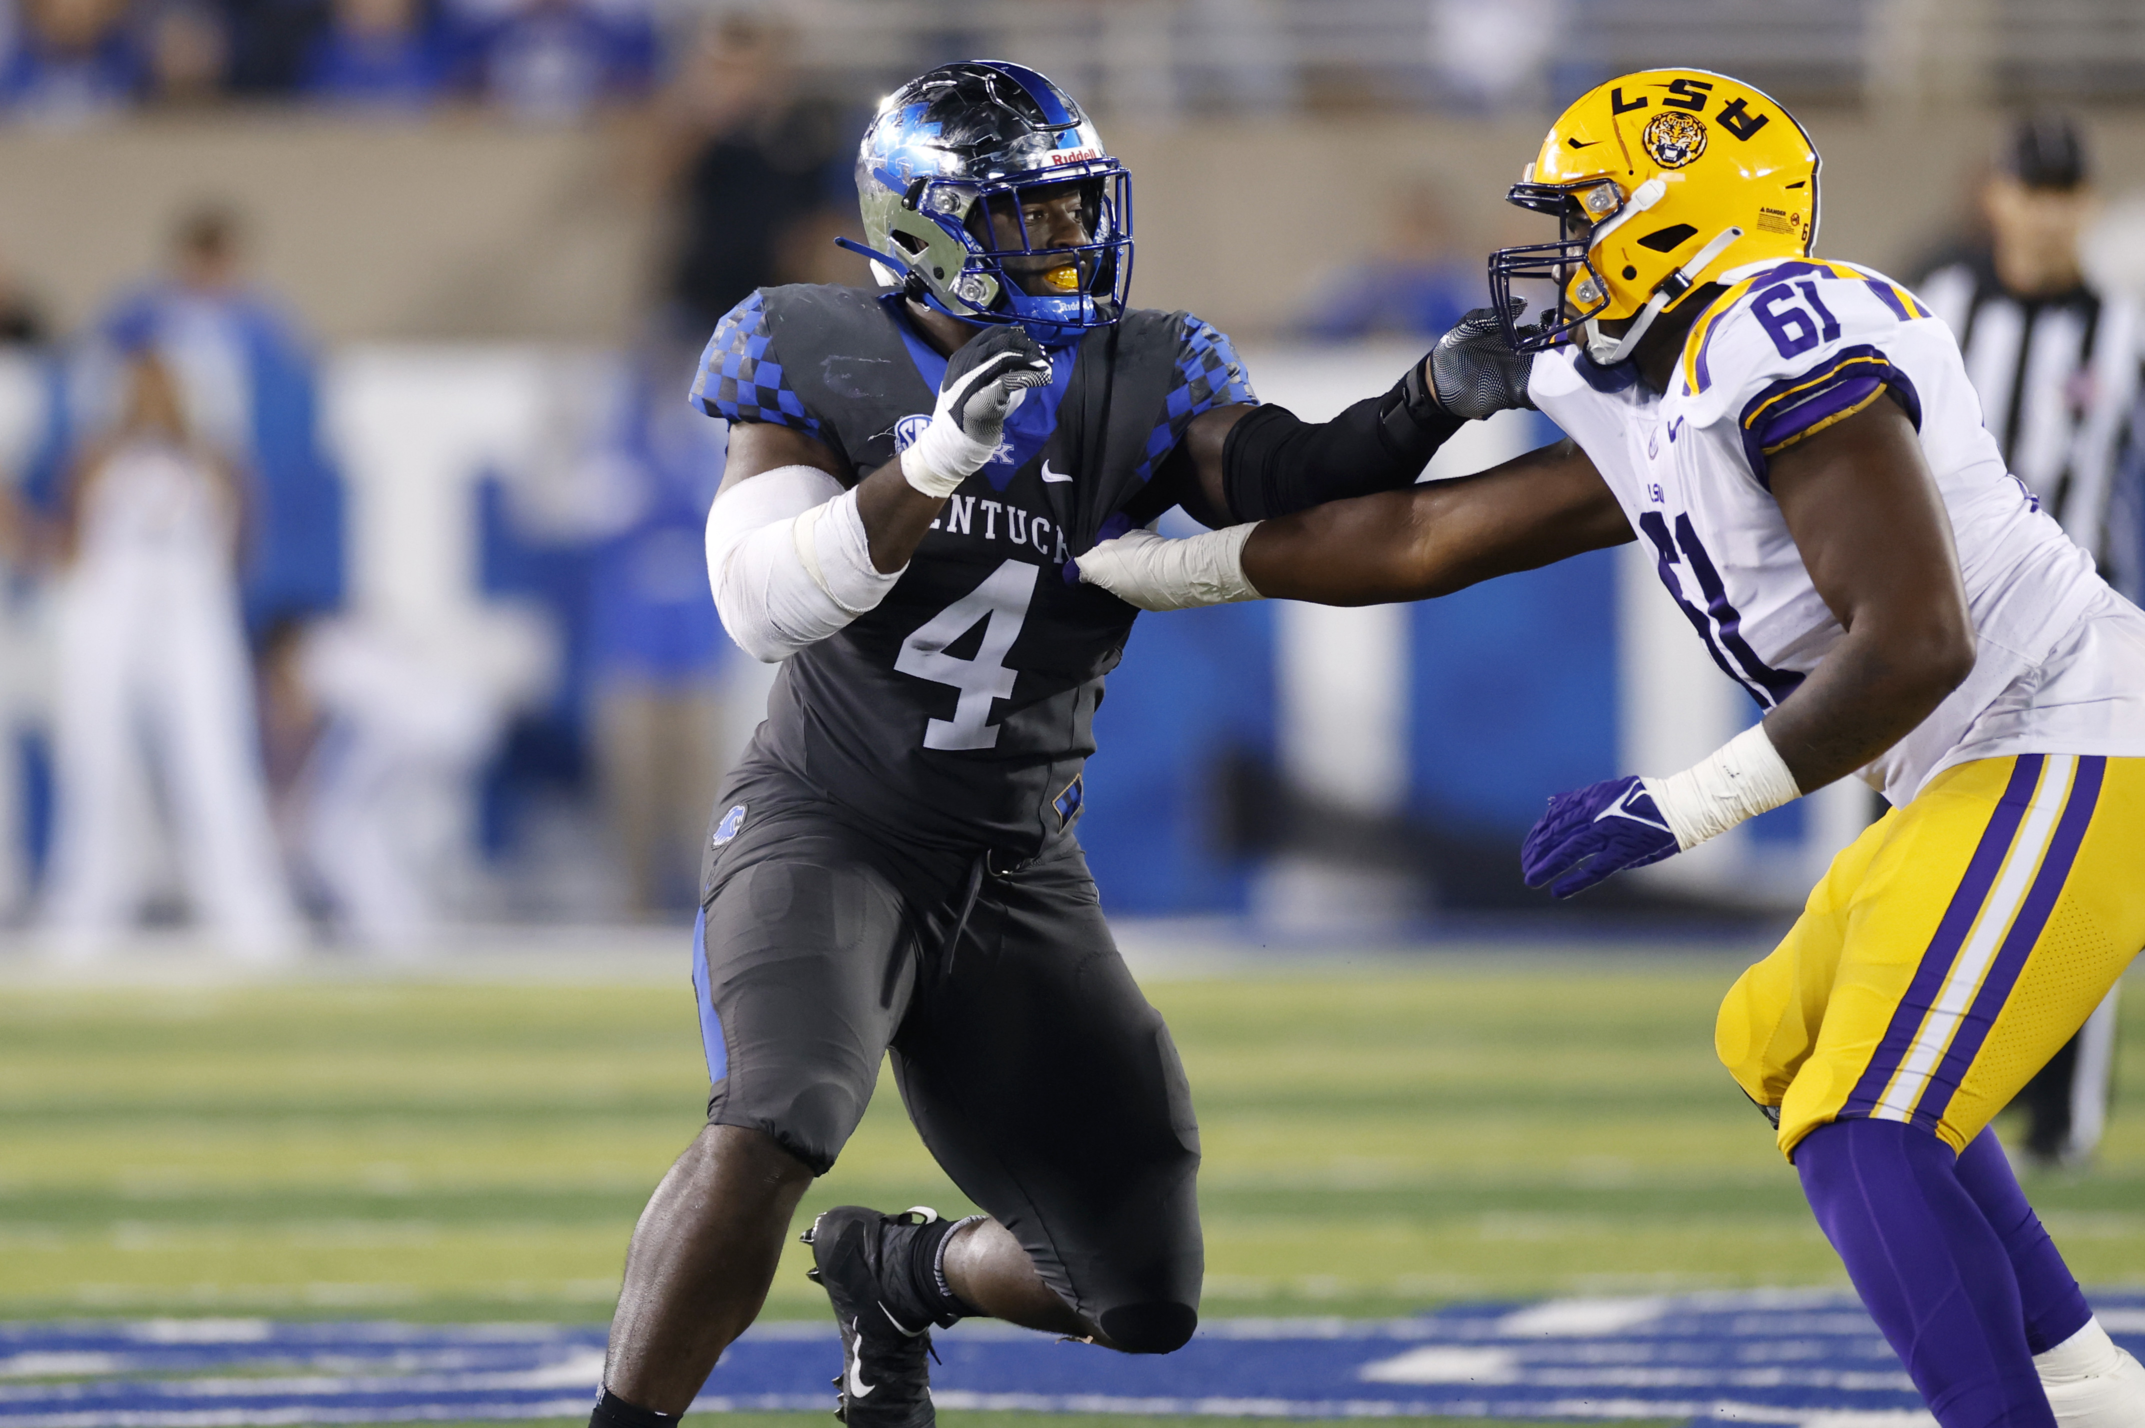
[[[2141,553],[2128,512],[2136,502],[2117,487],[2139,476],[2128,459],[2145,339],[2136,304],[2089,287],[2018,298],[1986,257],[1937,268],[1915,292],[1958,334],[1982,422],[2010,470],[2134,596]]]

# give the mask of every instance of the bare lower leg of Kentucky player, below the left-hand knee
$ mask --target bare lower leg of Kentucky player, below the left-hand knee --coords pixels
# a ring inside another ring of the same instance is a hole
[[[616,1400],[605,1422],[652,1428],[626,1409],[674,1417],[691,1407],[723,1349],[759,1317],[811,1181],[759,1130],[706,1126],[686,1147],[633,1226],[603,1366]]]

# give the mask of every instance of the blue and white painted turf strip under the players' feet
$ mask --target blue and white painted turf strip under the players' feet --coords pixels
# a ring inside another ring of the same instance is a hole
[[[2145,1293],[2094,1295],[2145,1351]],[[212,1428],[579,1417],[601,1327],[150,1319],[0,1325],[0,1426]],[[1920,1398],[1834,1291],[1454,1306],[1420,1319],[1221,1319],[1169,1357],[995,1323],[940,1334],[942,1409],[1268,1417],[1682,1417],[1900,1428]],[[770,1323],[701,1413],[832,1407],[832,1325]]]

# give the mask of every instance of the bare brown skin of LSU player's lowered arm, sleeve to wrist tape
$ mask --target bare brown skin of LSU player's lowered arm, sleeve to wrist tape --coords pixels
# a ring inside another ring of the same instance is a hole
[[[1772,493],[1847,635],[1765,716],[1795,783],[1862,768],[1973,671],[1952,521],[1907,414],[1877,401],[1772,459]]]

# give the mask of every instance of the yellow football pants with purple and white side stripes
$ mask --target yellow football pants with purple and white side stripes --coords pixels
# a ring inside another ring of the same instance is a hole
[[[1832,860],[1714,1048],[1789,1158],[1855,1117],[1965,1149],[2141,948],[2145,759],[1978,759]]]

